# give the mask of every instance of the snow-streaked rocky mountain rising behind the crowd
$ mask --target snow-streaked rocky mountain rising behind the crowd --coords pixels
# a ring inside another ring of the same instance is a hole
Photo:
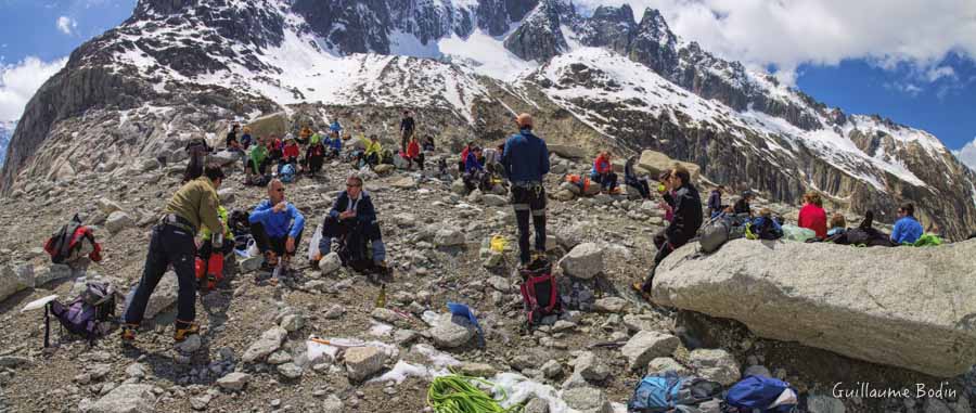
[[[429,129],[449,141],[500,139],[532,111],[547,139],[653,149],[772,199],[813,190],[883,220],[911,201],[953,237],[976,227],[976,176],[935,137],[716,57],[655,10],[564,0],[141,0],[30,101],[0,189],[169,156],[193,133],[216,143],[232,119],[295,104],[360,108],[354,127],[383,134],[395,118],[361,114],[413,107],[460,125]]]

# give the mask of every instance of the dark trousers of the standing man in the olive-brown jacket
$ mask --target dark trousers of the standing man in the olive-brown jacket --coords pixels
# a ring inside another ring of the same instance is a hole
[[[126,324],[142,323],[150,296],[172,266],[179,282],[177,321],[192,323],[196,320],[196,273],[194,271],[196,244],[193,234],[184,229],[157,224],[153,227],[150,249],[139,285],[129,293],[123,320]]]

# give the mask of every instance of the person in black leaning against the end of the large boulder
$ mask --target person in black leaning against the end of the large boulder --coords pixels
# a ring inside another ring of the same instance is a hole
[[[691,183],[691,173],[681,165],[676,165],[668,176],[669,186],[676,189],[673,195],[675,212],[671,223],[665,229],[664,244],[657,249],[654,256],[654,266],[651,273],[643,283],[634,284],[634,288],[643,294],[651,294],[651,287],[654,281],[654,273],[657,266],[664,261],[667,256],[686,244],[698,232],[702,227],[702,196],[698,190]]]

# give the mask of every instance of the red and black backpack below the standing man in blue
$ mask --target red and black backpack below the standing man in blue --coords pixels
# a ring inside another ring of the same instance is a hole
[[[551,314],[562,311],[558,285],[552,275],[552,264],[545,258],[537,258],[518,271],[522,275],[522,300],[525,305],[528,327]]]

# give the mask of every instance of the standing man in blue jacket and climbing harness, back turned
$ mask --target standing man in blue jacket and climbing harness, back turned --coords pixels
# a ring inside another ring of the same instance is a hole
[[[532,133],[532,117],[522,114],[515,119],[518,133],[509,138],[501,164],[512,183],[512,206],[518,223],[518,258],[529,263],[528,221],[532,217],[536,229],[536,251],[545,254],[545,189],[542,177],[549,173],[549,149],[545,141]]]

